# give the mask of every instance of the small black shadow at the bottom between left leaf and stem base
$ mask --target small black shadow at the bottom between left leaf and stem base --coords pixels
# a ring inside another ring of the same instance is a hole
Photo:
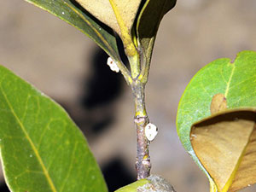
[[[109,192],[136,181],[136,175],[128,170],[125,163],[118,157],[105,164],[102,167],[102,172],[108,184]]]

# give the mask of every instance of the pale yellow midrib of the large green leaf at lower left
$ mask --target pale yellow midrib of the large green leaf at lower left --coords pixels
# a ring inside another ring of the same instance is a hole
[[[55,185],[54,185],[52,179],[49,177],[49,172],[47,171],[46,166],[44,166],[44,161],[42,160],[40,154],[38,153],[38,149],[36,148],[36,146],[35,146],[34,143],[32,142],[32,139],[29,137],[29,135],[28,135],[28,133],[27,133],[27,131],[26,131],[26,128],[25,128],[25,126],[22,124],[22,122],[20,121],[18,115],[15,113],[15,110],[14,110],[14,108],[12,107],[11,103],[9,102],[9,99],[8,99],[8,97],[6,96],[6,94],[5,94],[5,92],[4,92],[3,88],[2,88],[2,86],[0,86],[0,87],[1,87],[1,91],[2,91],[2,93],[3,93],[3,97],[4,97],[5,101],[7,102],[8,106],[9,106],[9,109],[11,110],[11,112],[13,113],[15,119],[17,120],[18,124],[20,125],[21,131],[23,131],[23,133],[25,134],[27,141],[30,143],[30,145],[31,145],[31,147],[32,147],[32,150],[33,150],[33,152],[35,153],[35,155],[36,155],[36,157],[37,157],[37,159],[38,159],[38,162],[39,162],[40,166],[41,166],[42,169],[43,169],[44,176],[46,177],[46,179],[47,179],[47,181],[48,181],[48,183],[49,183],[50,189],[51,189],[53,192],[57,192],[57,190],[55,189]]]

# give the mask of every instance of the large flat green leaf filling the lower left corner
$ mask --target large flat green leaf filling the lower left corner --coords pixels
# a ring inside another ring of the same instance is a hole
[[[107,192],[78,127],[58,104],[0,66],[0,146],[12,192]]]

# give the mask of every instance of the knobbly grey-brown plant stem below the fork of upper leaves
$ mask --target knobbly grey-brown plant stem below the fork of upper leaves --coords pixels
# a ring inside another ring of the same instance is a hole
[[[134,123],[137,129],[137,180],[150,175],[151,163],[149,157],[149,142],[145,136],[145,126],[148,124],[148,114],[145,108],[145,84],[141,81],[134,81],[131,89],[135,101]]]

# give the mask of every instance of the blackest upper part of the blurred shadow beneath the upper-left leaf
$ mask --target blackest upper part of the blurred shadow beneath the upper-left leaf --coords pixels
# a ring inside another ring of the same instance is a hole
[[[108,55],[102,49],[96,49],[92,58],[93,74],[84,84],[84,108],[92,109],[101,105],[109,105],[122,92],[123,79],[119,73],[114,73],[107,65]]]

